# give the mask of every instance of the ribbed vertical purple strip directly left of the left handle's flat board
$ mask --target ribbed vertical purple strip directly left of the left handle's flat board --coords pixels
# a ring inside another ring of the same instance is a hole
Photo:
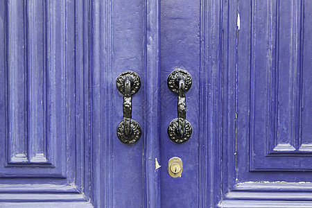
[[[89,195],[94,207],[113,207],[112,190],[112,92],[115,80],[112,76],[112,1],[88,2],[87,26],[89,63],[87,74],[89,96],[85,111],[90,115],[85,138],[85,153],[89,153]],[[115,139],[115,138],[114,138]]]

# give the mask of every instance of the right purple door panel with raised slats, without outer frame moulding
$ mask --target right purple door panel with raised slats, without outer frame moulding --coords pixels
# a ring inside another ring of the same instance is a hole
[[[261,8],[265,7],[264,12]],[[309,5],[254,2],[250,71],[250,170],[311,170]]]

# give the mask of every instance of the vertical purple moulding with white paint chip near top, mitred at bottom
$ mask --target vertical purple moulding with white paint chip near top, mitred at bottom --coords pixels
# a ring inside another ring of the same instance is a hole
[[[237,121],[239,116],[239,104],[237,99],[238,94],[238,44],[239,30],[241,29],[241,18],[238,12],[239,6],[236,0],[223,3],[223,12],[221,21],[222,36],[220,37],[220,49],[222,65],[222,76],[220,80],[221,101],[223,107],[222,114],[222,129],[220,129],[220,191],[215,193],[214,205],[225,198],[227,192],[233,189],[236,184],[236,169],[237,169]],[[241,106],[242,107],[242,106]],[[239,141],[240,142],[240,141]]]

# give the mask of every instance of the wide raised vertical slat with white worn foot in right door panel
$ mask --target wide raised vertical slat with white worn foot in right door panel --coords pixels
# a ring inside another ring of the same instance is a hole
[[[300,147],[303,1],[296,0],[291,4],[277,0],[268,5],[272,57],[268,73],[268,106],[272,116],[268,120],[268,126],[272,126],[268,153],[293,152]],[[285,89],[288,90],[283,92]]]

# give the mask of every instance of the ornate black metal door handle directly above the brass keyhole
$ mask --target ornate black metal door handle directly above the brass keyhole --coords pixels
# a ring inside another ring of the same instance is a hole
[[[184,69],[175,69],[170,73],[167,85],[171,92],[178,94],[177,97],[177,119],[173,119],[168,125],[168,136],[176,143],[187,141],[192,135],[192,126],[187,121],[187,102],[185,92],[192,85],[191,75]]]

